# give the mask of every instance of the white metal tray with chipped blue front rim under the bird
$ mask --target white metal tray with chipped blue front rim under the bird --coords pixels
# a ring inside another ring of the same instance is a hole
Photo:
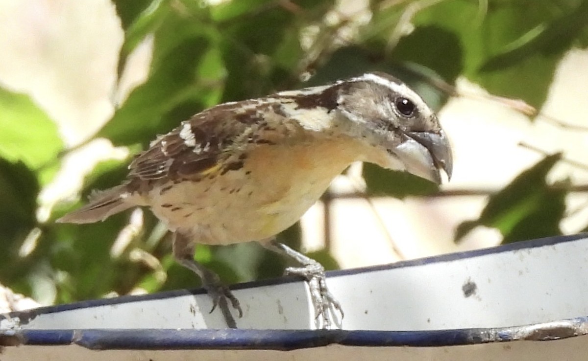
[[[476,359],[547,360],[554,355],[580,359],[588,351],[587,259],[588,238],[577,235],[332,272],[330,290],[345,310],[342,328],[359,330],[349,332],[285,331],[308,330],[315,324],[305,284],[292,279],[237,286],[234,293],[244,316],[237,320],[236,332],[206,333],[224,328],[220,312],[209,313],[208,296],[188,291],[0,315],[0,345],[21,344],[4,347],[0,359],[106,356],[85,347],[140,349],[111,350],[107,358],[112,360],[146,355],[159,359],[164,354],[178,360],[190,359],[186,355],[228,360],[312,355],[334,360],[354,354],[375,360],[465,360],[475,355]],[[263,331],[267,329],[276,331]],[[578,353],[566,349],[572,344]]]

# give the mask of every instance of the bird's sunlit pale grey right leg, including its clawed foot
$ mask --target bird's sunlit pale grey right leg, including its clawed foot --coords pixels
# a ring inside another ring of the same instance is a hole
[[[325,329],[331,327],[331,310],[338,311],[341,314],[341,318],[343,318],[343,309],[339,301],[333,297],[327,288],[325,267],[314,259],[306,257],[302,253],[295,251],[275,239],[269,239],[262,244],[264,247],[270,249],[270,251],[293,258],[302,265],[302,267],[286,268],[286,274],[302,276],[308,282],[310,298],[315,308],[315,319],[319,327]]]

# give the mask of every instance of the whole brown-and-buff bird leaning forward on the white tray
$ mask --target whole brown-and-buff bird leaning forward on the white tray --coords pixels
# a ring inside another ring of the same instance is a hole
[[[343,309],[325,268],[276,241],[350,164],[364,161],[441,183],[452,150],[425,101],[387,73],[368,72],[321,86],[218,104],[158,136],[129,165],[120,185],[95,191],[58,222],[103,221],[149,207],[172,232],[179,264],[199,276],[229,328],[238,299],[194,259],[195,245],[258,241],[299,262],[286,269],[309,284],[321,328]],[[232,309],[229,307],[229,303]]]

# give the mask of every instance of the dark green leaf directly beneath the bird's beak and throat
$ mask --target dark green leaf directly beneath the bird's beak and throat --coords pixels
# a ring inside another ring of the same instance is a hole
[[[407,195],[427,195],[439,190],[435,183],[426,179],[369,163],[363,164],[363,178],[368,185],[369,195],[390,195],[402,199]]]

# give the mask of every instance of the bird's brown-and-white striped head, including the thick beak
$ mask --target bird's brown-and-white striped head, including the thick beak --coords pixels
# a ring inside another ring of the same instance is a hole
[[[440,170],[451,177],[452,152],[445,132],[433,110],[405,83],[385,73],[367,73],[335,83],[333,95],[335,90],[333,110],[347,124],[346,131],[375,149],[385,149],[385,156],[374,163],[437,184]]]

